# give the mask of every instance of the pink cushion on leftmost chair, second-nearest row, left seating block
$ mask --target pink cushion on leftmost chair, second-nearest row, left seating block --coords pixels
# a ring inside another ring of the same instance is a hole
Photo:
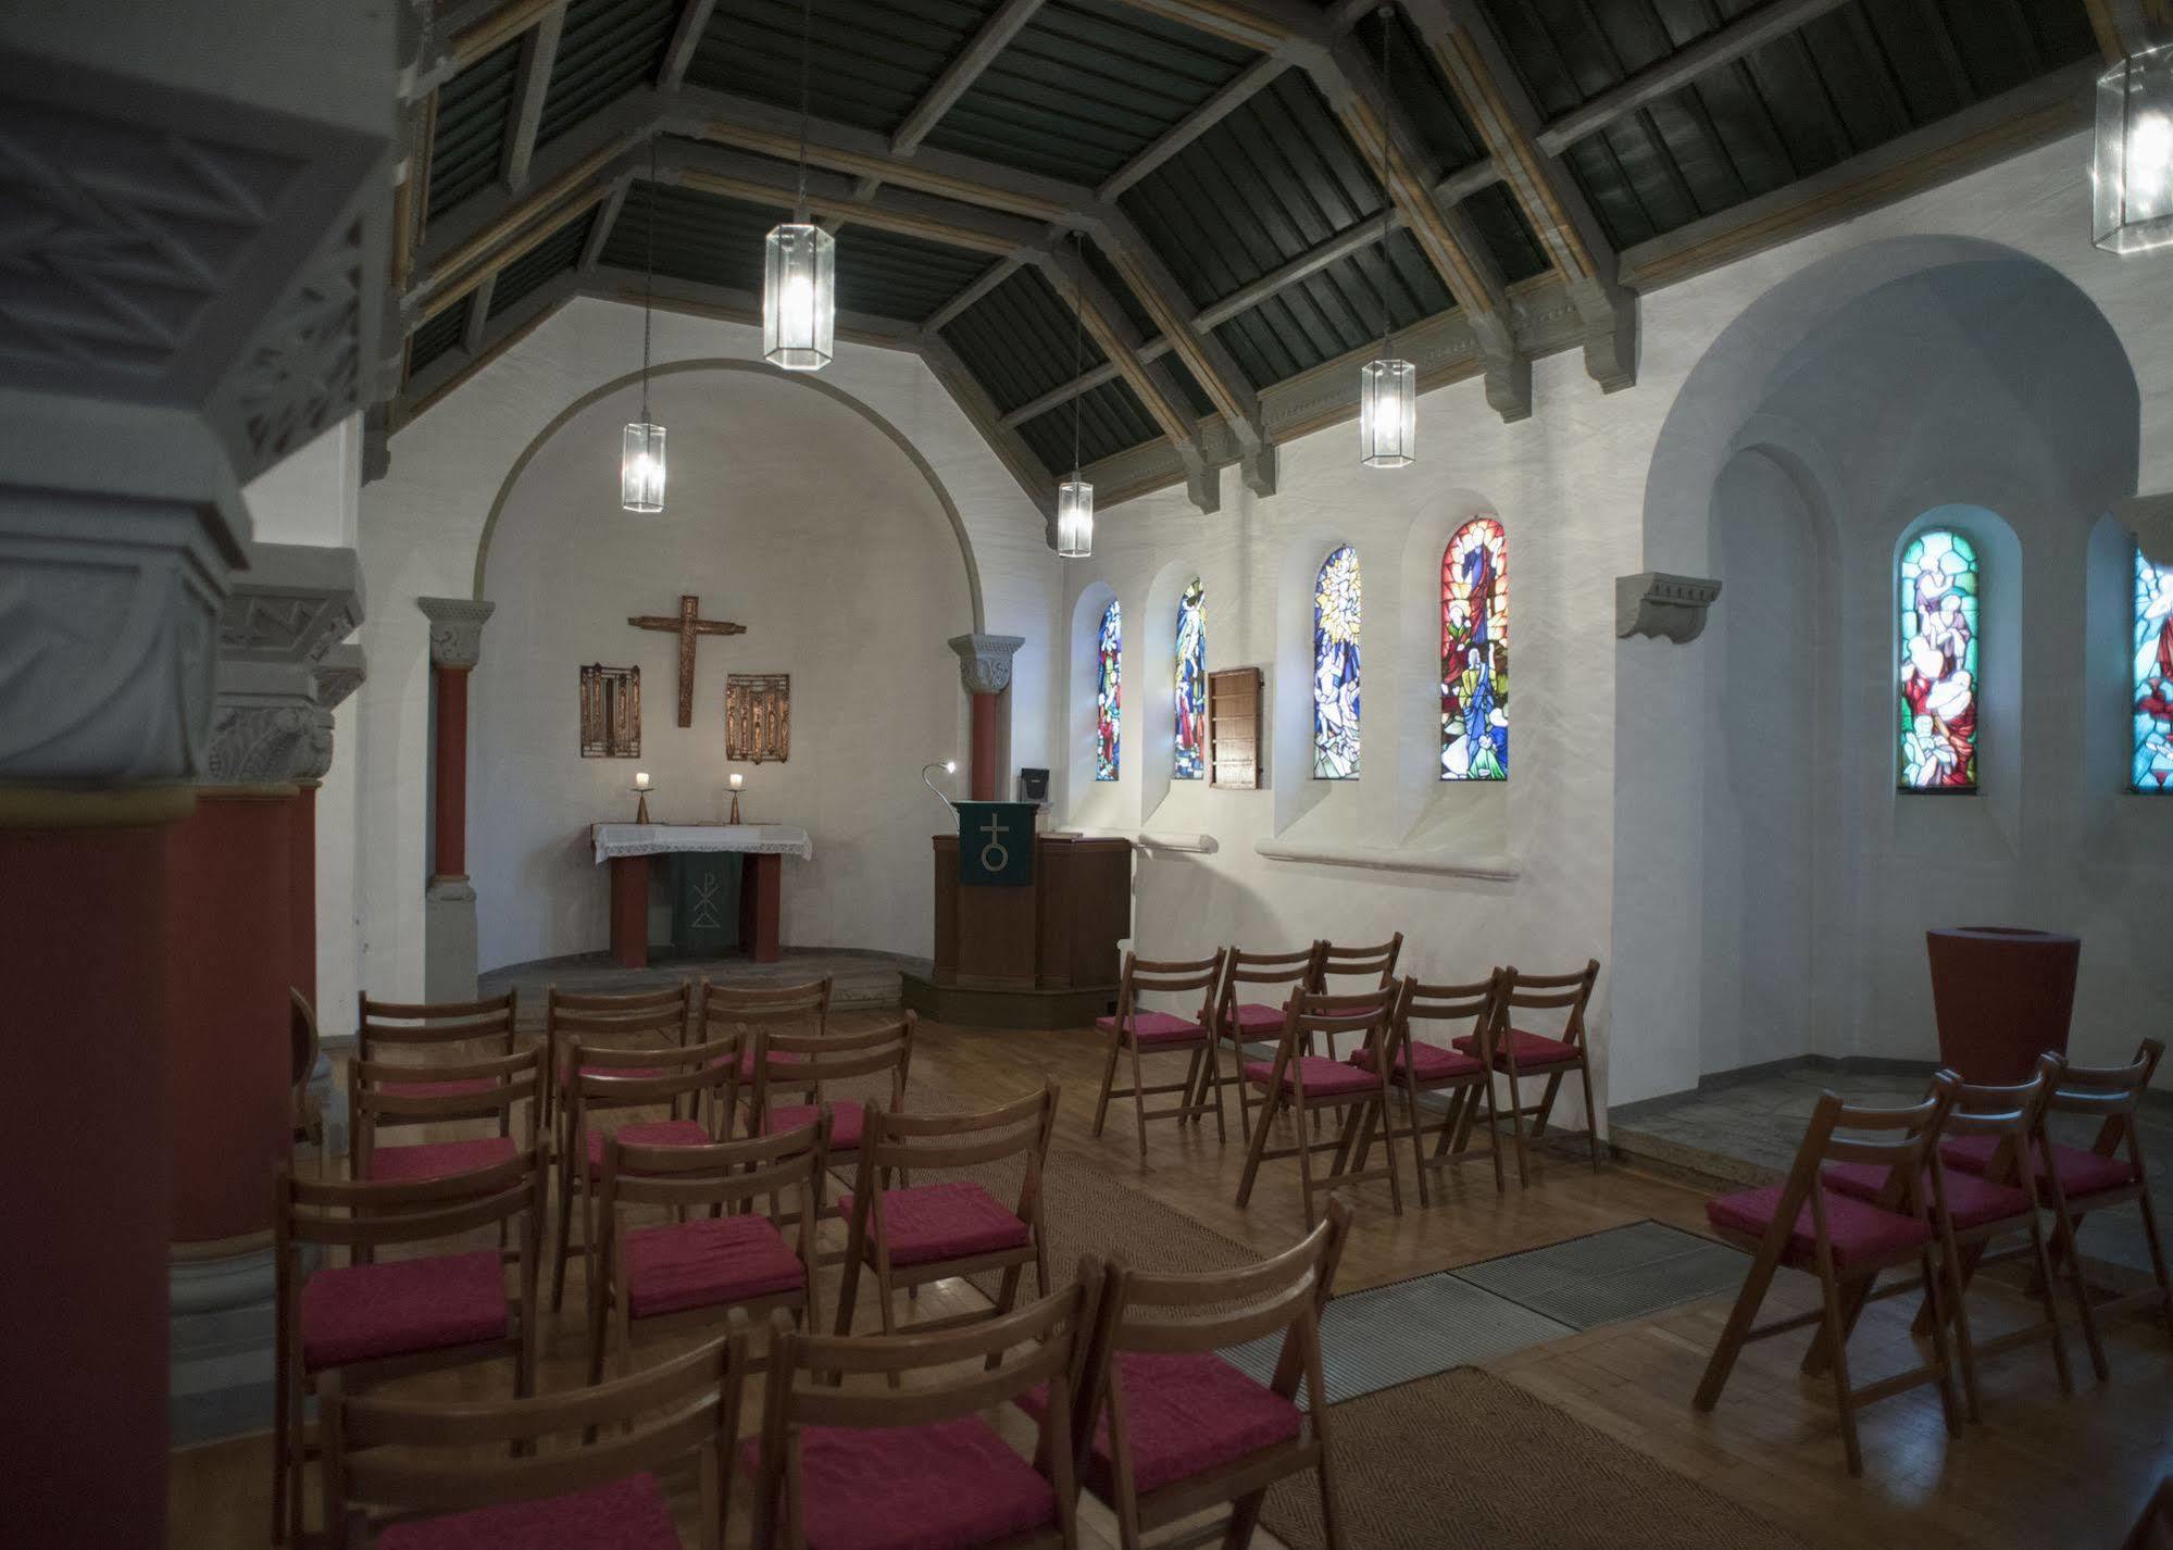
[[[319,1270],[302,1283],[311,1372],[500,1339],[511,1328],[495,1248]]]

